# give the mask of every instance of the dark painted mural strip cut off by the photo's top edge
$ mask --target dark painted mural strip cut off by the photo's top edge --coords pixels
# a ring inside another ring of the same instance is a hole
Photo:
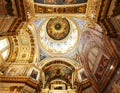
[[[88,0],[34,0],[37,3],[42,4],[80,4],[80,3],[86,3]]]

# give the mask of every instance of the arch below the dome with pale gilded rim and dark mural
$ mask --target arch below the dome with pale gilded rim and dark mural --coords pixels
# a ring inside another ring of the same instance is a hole
[[[39,65],[45,75],[44,86],[56,79],[63,80],[72,86],[73,73],[79,68],[78,63],[67,58],[45,58]]]

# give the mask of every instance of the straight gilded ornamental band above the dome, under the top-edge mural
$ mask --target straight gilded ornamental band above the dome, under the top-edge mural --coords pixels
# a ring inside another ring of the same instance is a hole
[[[78,4],[78,5],[43,5],[35,3],[35,13],[40,14],[75,14],[75,13],[86,13],[87,4]]]

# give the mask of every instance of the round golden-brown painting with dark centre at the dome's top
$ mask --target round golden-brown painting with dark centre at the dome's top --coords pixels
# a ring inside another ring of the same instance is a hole
[[[51,18],[47,23],[47,33],[54,40],[64,39],[70,30],[69,22],[66,18]]]

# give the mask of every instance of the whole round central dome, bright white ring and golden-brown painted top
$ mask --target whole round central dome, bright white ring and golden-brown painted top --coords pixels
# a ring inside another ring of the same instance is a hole
[[[44,20],[40,29],[40,45],[47,53],[65,54],[78,43],[79,31],[74,21],[65,17]]]

